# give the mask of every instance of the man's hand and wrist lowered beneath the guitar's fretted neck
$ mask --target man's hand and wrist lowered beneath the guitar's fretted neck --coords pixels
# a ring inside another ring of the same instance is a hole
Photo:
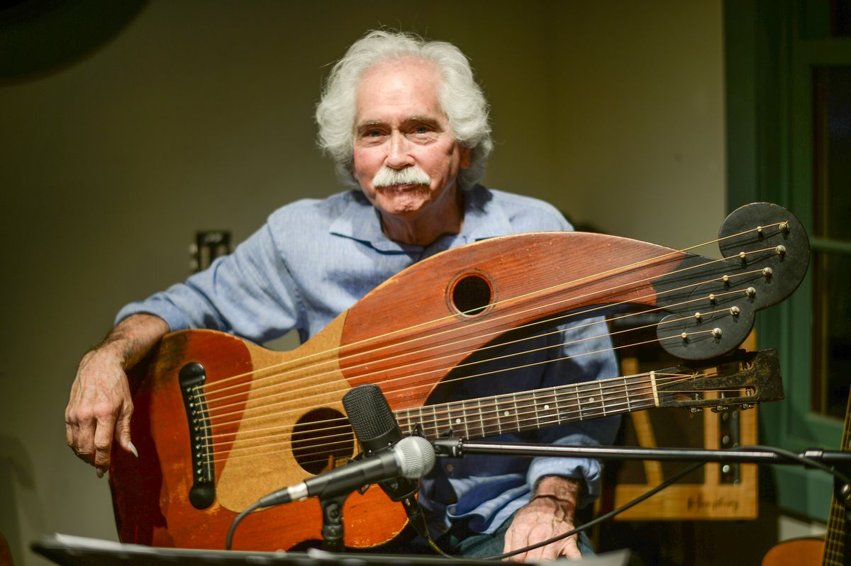
[[[574,529],[574,510],[578,494],[579,484],[573,479],[558,476],[541,478],[532,501],[517,511],[511,527],[505,532],[503,552],[533,545]],[[509,559],[518,562],[544,562],[561,556],[582,558],[580,549],[576,546],[576,535]]]

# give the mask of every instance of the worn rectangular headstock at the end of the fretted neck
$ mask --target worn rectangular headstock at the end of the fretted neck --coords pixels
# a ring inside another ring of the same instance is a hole
[[[711,364],[685,364],[654,375],[660,407],[750,409],[785,397],[780,362],[773,349],[739,350]]]

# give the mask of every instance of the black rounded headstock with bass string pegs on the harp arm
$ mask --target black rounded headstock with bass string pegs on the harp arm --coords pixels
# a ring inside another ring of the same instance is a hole
[[[681,359],[711,359],[745,340],[757,310],[780,303],[801,284],[809,239],[795,216],[768,202],[730,213],[718,234],[724,259],[689,254],[654,281],[670,312],[657,326],[665,350]]]

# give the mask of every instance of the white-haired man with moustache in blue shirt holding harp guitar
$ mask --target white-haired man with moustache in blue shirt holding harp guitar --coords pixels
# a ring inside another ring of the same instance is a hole
[[[108,469],[111,441],[135,454],[125,370],[168,331],[213,328],[265,342],[296,329],[302,341],[400,270],[495,235],[570,229],[552,207],[478,184],[491,149],[488,107],[464,54],[445,42],[373,31],[351,46],[317,106],[319,140],[357,189],[298,201],[226,258],[117,315],[83,356],[66,409],[68,444]],[[460,397],[614,376],[605,329],[568,330],[561,361],[461,387]],[[576,355],[586,354],[586,355]],[[573,356],[572,359],[565,359]],[[487,389],[485,388],[487,387]],[[565,444],[608,443],[616,419],[505,435]],[[468,457],[422,482],[420,502],[449,552],[483,556],[572,529],[597,495],[596,461]],[[519,558],[580,557],[576,537]]]

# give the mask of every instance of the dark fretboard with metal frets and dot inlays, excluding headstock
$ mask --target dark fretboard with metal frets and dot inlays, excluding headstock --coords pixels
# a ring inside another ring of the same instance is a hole
[[[395,411],[405,433],[480,439],[656,406],[653,373]]]

